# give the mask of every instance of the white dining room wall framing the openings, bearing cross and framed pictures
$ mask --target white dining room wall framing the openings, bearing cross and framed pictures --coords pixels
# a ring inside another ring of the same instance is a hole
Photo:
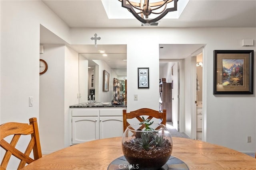
[[[203,68],[206,141],[240,151],[256,150],[255,95],[212,94],[213,50],[255,51],[255,45],[242,47],[241,39],[255,41],[256,28],[76,28],[70,29],[70,36],[68,26],[41,1],[1,1],[1,123],[27,122],[28,118],[39,116],[40,23],[72,44],[91,44],[90,38],[84,37],[95,32],[102,37],[101,44],[127,44],[128,111],[141,107],[158,109],[159,44],[206,44]],[[149,89],[138,89],[138,67],[150,68]],[[134,94],[138,94],[137,101],[133,100]],[[34,96],[33,107],[28,107],[29,96]],[[252,136],[252,143],[246,143],[248,135]]]

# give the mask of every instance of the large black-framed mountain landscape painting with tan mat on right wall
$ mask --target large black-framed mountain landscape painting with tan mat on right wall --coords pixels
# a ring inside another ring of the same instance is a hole
[[[213,94],[253,94],[253,50],[214,50]]]

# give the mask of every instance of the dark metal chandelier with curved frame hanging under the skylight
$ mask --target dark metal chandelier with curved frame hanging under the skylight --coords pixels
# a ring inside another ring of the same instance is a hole
[[[159,2],[150,3],[150,0],[140,0],[140,2],[133,2],[132,0],[119,0],[122,2],[122,7],[127,8],[132,15],[145,24],[154,23],[162,19],[168,12],[177,11],[177,2],[178,0],[159,0]],[[169,2],[174,1],[174,7],[167,8]],[[154,10],[160,9],[160,12],[154,12]],[[135,10],[139,10],[136,12]],[[140,15],[139,15],[140,14]],[[154,19],[148,19],[150,14],[160,14]],[[144,16],[146,19],[144,19]]]

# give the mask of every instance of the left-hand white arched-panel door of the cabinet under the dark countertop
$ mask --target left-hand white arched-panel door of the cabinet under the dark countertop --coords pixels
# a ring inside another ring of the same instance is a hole
[[[99,139],[98,117],[72,117],[72,144]]]

